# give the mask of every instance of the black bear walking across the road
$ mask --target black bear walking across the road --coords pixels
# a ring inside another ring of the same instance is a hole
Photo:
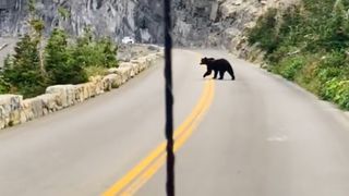
[[[231,79],[236,79],[230,63],[225,59],[203,58],[200,64],[207,65],[207,72],[204,74],[204,77],[206,77],[212,73],[212,71],[214,71],[214,78],[217,78],[217,75],[219,73],[219,79],[222,79],[225,73],[228,72],[231,75]]]

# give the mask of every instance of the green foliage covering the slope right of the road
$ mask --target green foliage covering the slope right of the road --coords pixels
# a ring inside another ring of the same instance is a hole
[[[249,32],[268,70],[349,110],[349,0],[268,10]]]

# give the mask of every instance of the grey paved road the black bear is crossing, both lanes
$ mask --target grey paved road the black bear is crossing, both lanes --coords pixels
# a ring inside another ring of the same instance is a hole
[[[237,81],[177,155],[181,196],[347,196],[349,120],[312,95],[221,51]],[[174,51],[176,125],[204,88],[198,54]],[[0,132],[0,195],[99,195],[164,140],[158,64],[120,89]],[[164,169],[139,192],[165,195]]]

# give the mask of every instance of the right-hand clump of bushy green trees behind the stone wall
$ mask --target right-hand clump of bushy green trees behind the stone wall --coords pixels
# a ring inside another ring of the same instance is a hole
[[[46,47],[46,70],[51,84],[84,83],[89,76],[105,75],[117,68],[117,47],[109,38],[94,40],[92,33],[68,45],[64,30],[55,29]]]

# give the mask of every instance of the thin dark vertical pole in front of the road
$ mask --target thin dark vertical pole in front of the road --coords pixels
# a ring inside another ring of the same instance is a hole
[[[165,79],[166,79],[166,139],[167,139],[167,196],[174,196],[174,152],[173,152],[173,95],[171,64],[171,0],[164,0],[165,19]]]

